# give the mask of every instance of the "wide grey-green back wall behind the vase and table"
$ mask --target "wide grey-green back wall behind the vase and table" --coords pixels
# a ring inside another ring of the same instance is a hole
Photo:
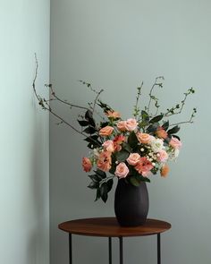
[[[209,264],[210,252],[210,68],[211,2],[207,0],[61,0],[52,1],[51,80],[56,92],[86,105],[90,93],[77,80],[105,89],[104,98],[122,115],[131,115],[135,89],[165,75],[166,107],[193,86],[197,94],[186,105],[198,106],[193,125],[181,130],[181,156],[168,179],[148,184],[149,217],[172,223],[162,236],[163,264]],[[57,107],[57,106],[56,106]],[[65,118],[64,107],[56,108]],[[187,110],[187,111],[186,111]],[[80,136],[51,119],[50,216],[51,264],[67,263],[67,235],[58,223],[76,217],[114,215],[114,193],[106,204],[94,202],[80,160],[89,150]],[[77,263],[107,263],[107,241],[73,237]],[[156,263],[156,238],[125,240],[125,263]],[[114,243],[114,263],[118,247]]]

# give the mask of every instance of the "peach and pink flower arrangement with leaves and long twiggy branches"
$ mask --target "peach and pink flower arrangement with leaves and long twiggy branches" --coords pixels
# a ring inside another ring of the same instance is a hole
[[[103,90],[93,89],[91,84],[86,81],[80,82],[97,94],[94,102],[89,103],[89,107],[75,106],[58,98],[51,84],[46,85],[50,89],[51,98],[49,100],[41,98],[35,89],[37,71],[33,89],[39,105],[55,115],[60,123],[65,123],[74,131],[79,132],[84,136],[84,141],[88,142],[89,157],[82,158],[82,167],[87,173],[93,169],[93,173],[89,175],[91,182],[88,187],[97,191],[96,200],[100,198],[104,201],[107,200],[108,192],[113,187],[114,178],[124,178],[128,183],[139,186],[141,182],[150,182],[151,175],[157,173],[162,177],[168,175],[168,162],[175,160],[181,149],[181,139],[176,135],[180,131],[179,124],[193,123],[197,109],[193,108],[188,121],[170,123],[169,119],[172,115],[181,114],[186,99],[195,92],[193,88],[184,93],[180,104],[168,108],[165,113],[157,114],[160,106],[158,98],[153,92],[156,87],[163,87],[164,78],[156,78],[149,92],[148,105],[141,110],[139,98],[143,88],[142,82],[137,89],[133,116],[124,119],[119,112],[99,99]],[[78,119],[81,130],[57,115],[50,106],[50,101],[58,101],[71,108],[80,108],[84,113]],[[152,103],[156,114],[151,113]],[[102,117],[102,113],[97,112],[97,106],[102,109],[105,116]],[[101,116],[102,120],[97,123],[94,115]]]

